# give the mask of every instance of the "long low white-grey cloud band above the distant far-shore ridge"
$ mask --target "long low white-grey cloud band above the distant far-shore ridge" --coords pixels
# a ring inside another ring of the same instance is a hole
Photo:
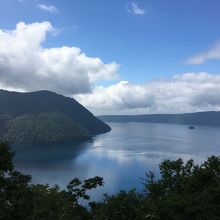
[[[145,84],[119,82],[75,96],[96,114],[220,110],[219,97],[220,76],[209,73],[179,74]]]

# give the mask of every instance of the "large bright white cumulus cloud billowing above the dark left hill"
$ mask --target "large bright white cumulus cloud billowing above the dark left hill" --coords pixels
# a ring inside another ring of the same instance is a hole
[[[48,32],[54,32],[49,22],[20,22],[14,30],[0,29],[0,88],[73,95],[91,92],[98,80],[117,78],[118,64],[105,64],[80,48],[44,48]]]

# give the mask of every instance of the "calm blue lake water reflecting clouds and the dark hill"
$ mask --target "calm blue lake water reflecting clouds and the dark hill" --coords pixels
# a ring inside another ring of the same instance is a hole
[[[115,193],[136,187],[146,171],[158,173],[164,159],[193,158],[201,163],[220,155],[220,128],[151,123],[109,123],[112,131],[93,142],[16,146],[15,164],[34,183],[66,186],[73,177],[102,176],[105,186],[93,193]]]

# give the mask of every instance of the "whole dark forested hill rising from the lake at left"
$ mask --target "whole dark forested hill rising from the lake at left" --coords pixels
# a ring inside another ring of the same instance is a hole
[[[0,90],[0,140],[10,141],[11,138],[21,143],[69,141],[110,130],[72,98],[49,91]],[[17,140],[19,136],[20,141]]]

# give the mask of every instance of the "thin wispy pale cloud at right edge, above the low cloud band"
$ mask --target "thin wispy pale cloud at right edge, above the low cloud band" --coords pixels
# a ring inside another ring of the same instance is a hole
[[[205,52],[196,54],[186,60],[187,64],[202,64],[208,60],[220,59],[220,42],[210,47]]]

